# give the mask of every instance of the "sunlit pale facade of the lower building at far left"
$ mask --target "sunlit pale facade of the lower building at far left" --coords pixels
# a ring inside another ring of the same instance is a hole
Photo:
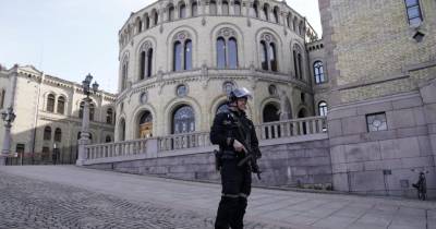
[[[32,157],[33,162],[49,162],[56,144],[58,160],[75,162],[77,134],[82,126],[80,106],[85,97],[81,85],[45,74],[31,65],[15,65],[0,70],[0,91],[4,95],[0,96],[1,111],[12,106],[16,114],[11,130],[12,153],[24,152],[25,164],[32,164]],[[95,106],[92,142],[104,143],[109,138],[112,142],[114,112],[108,123],[107,111],[109,108],[114,110],[116,96],[100,91],[90,97]],[[0,141],[3,141],[3,134],[4,125],[1,124]]]

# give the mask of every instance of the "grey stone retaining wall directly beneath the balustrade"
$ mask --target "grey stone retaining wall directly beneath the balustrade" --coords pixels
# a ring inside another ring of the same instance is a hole
[[[328,140],[301,143],[264,144],[259,167],[262,180],[253,174],[253,182],[263,186],[331,188],[331,165]],[[197,152],[131,161],[102,162],[87,168],[113,170],[135,174],[153,174],[185,180],[218,182],[214,154]]]

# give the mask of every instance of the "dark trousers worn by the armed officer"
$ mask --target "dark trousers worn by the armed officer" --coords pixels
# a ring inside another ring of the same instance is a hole
[[[250,168],[244,165],[237,166],[235,159],[222,161],[221,183],[222,196],[219,202],[216,229],[242,229],[246,209],[246,197],[251,192],[252,174]]]

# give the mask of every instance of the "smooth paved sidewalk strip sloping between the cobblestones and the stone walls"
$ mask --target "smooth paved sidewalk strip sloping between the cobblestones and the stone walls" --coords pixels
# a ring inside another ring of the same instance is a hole
[[[214,219],[220,198],[220,186],[213,183],[117,173],[74,166],[0,167],[0,178],[2,176],[20,176],[36,181],[66,184],[132,203],[152,202],[180,212],[203,214],[208,220]],[[436,203],[253,189],[245,220],[259,222],[268,228],[425,229],[436,228]]]

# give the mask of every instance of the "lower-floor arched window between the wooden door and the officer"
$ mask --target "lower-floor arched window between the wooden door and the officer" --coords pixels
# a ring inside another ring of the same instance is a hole
[[[187,105],[179,107],[172,117],[172,133],[187,133],[195,131],[194,110]]]

